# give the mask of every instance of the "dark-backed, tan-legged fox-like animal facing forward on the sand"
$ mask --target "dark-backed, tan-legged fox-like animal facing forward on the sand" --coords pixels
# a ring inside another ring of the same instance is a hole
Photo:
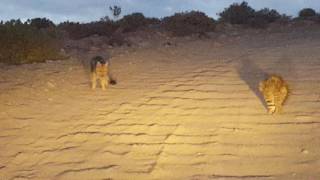
[[[100,82],[102,90],[106,90],[109,84],[115,85],[117,82],[110,75],[110,60],[102,56],[94,56],[90,61],[91,68],[91,89],[96,89],[97,80]]]

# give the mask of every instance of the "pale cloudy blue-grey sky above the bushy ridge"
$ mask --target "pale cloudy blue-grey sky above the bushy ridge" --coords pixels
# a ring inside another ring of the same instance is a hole
[[[0,20],[27,20],[46,17],[62,21],[89,22],[111,16],[109,6],[118,5],[122,15],[142,12],[148,17],[164,17],[175,12],[199,10],[217,18],[217,13],[242,0],[0,0]],[[319,0],[247,0],[254,9],[268,7],[296,16],[299,10],[311,7],[320,11]]]

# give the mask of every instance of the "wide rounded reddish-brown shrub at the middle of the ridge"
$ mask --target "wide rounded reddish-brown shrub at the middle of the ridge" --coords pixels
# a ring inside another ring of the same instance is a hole
[[[175,36],[187,36],[191,34],[203,34],[213,31],[214,19],[199,11],[175,13],[173,16],[162,20],[163,27]]]

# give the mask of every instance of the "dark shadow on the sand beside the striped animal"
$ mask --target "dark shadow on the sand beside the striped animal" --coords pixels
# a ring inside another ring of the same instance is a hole
[[[249,86],[250,90],[260,99],[263,106],[267,108],[264,97],[259,91],[260,81],[268,77],[268,73],[259,68],[247,56],[240,57],[240,62],[237,69],[240,78]]]

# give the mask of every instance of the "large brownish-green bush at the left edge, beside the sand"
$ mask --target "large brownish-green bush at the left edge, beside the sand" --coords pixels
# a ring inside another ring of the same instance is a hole
[[[0,62],[23,64],[62,58],[55,31],[11,20],[0,25],[0,34]]]

